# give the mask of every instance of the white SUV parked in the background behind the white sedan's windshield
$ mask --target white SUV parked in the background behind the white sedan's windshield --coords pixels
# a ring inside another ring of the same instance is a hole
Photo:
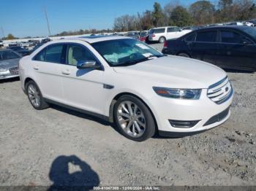
[[[189,32],[189,30],[182,31],[181,28],[177,26],[152,28],[148,33],[148,40],[151,42],[164,43],[166,39],[176,39]]]

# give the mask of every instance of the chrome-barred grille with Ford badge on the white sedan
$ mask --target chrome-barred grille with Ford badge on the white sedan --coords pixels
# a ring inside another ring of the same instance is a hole
[[[233,88],[227,77],[208,87],[207,96],[216,104],[222,104],[233,95]]]

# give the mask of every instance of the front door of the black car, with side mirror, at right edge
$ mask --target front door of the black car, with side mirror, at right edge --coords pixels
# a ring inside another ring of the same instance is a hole
[[[249,37],[238,31],[219,31],[217,65],[225,69],[255,68],[256,45]]]

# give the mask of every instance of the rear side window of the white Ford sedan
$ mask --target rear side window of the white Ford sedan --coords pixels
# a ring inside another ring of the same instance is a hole
[[[56,44],[49,45],[41,50],[35,57],[35,61],[51,62],[51,63],[64,63],[64,45]]]

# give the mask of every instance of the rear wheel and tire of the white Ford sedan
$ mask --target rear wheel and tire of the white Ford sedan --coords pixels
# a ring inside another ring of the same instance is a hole
[[[42,97],[42,93],[39,90],[39,87],[34,81],[29,81],[26,83],[26,94],[28,95],[30,104],[34,109],[42,110],[49,107],[45,99]]]

